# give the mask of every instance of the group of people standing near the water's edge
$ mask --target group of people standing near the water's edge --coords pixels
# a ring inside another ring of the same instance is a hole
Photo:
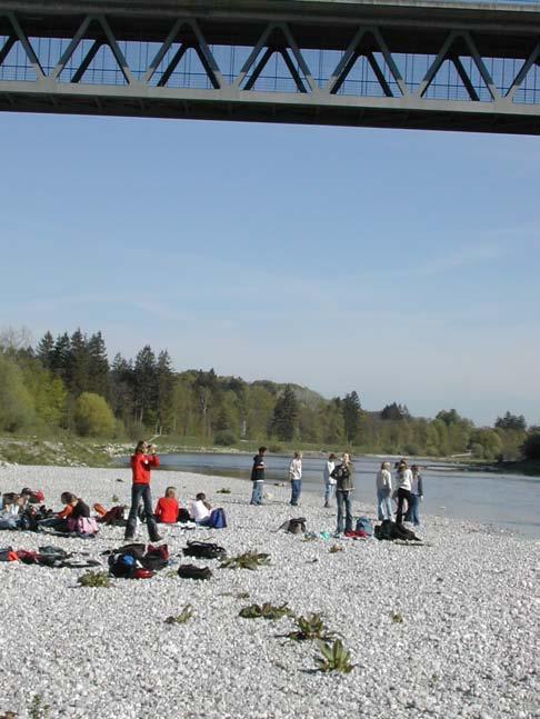
[[[258,453],[253,457],[251,470],[252,492],[251,505],[262,505],[264,486],[264,456],[266,447],[259,447]],[[324,507],[330,507],[330,501],[336,498],[338,507],[337,533],[341,535],[352,531],[352,500],[351,492],[354,489],[353,467],[351,457],[343,452],[341,461],[333,452],[324,462],[322,478],[324,483]],[[420,525],[419,505],[423,499],[422,477],[420,468],[402,459],[394,465],[396,489],[392,488],[392,475],[390,462],[382,462],[377,472],[377,513],[379,520],[391,520],[393,517],[392,500],[397,502],[396,522],[412,522]],[[297,507],[302,488],[302,452],[294,452],[289,465],[289,480],[291,485],[291,507]]]

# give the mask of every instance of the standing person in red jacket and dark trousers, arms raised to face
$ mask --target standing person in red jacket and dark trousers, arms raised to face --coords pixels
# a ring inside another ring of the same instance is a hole
[[[148,452],[148,453],[147,453]],[[134,453],[131,456],[131,472],[133,485],[131,486],[131,509],[129,510],[128,526],[126,527],[126,540],[134,537],[137,528],[137,510],[142,500],[144,517],[147,518],[148,536],[150,541],[163,539],[158,533],[158,526],[152,511],[152,493],[150,491],[150,469],[159,467],[159,457],[156,455],[156,446],[147,445],[144,440],[137,443]]]

